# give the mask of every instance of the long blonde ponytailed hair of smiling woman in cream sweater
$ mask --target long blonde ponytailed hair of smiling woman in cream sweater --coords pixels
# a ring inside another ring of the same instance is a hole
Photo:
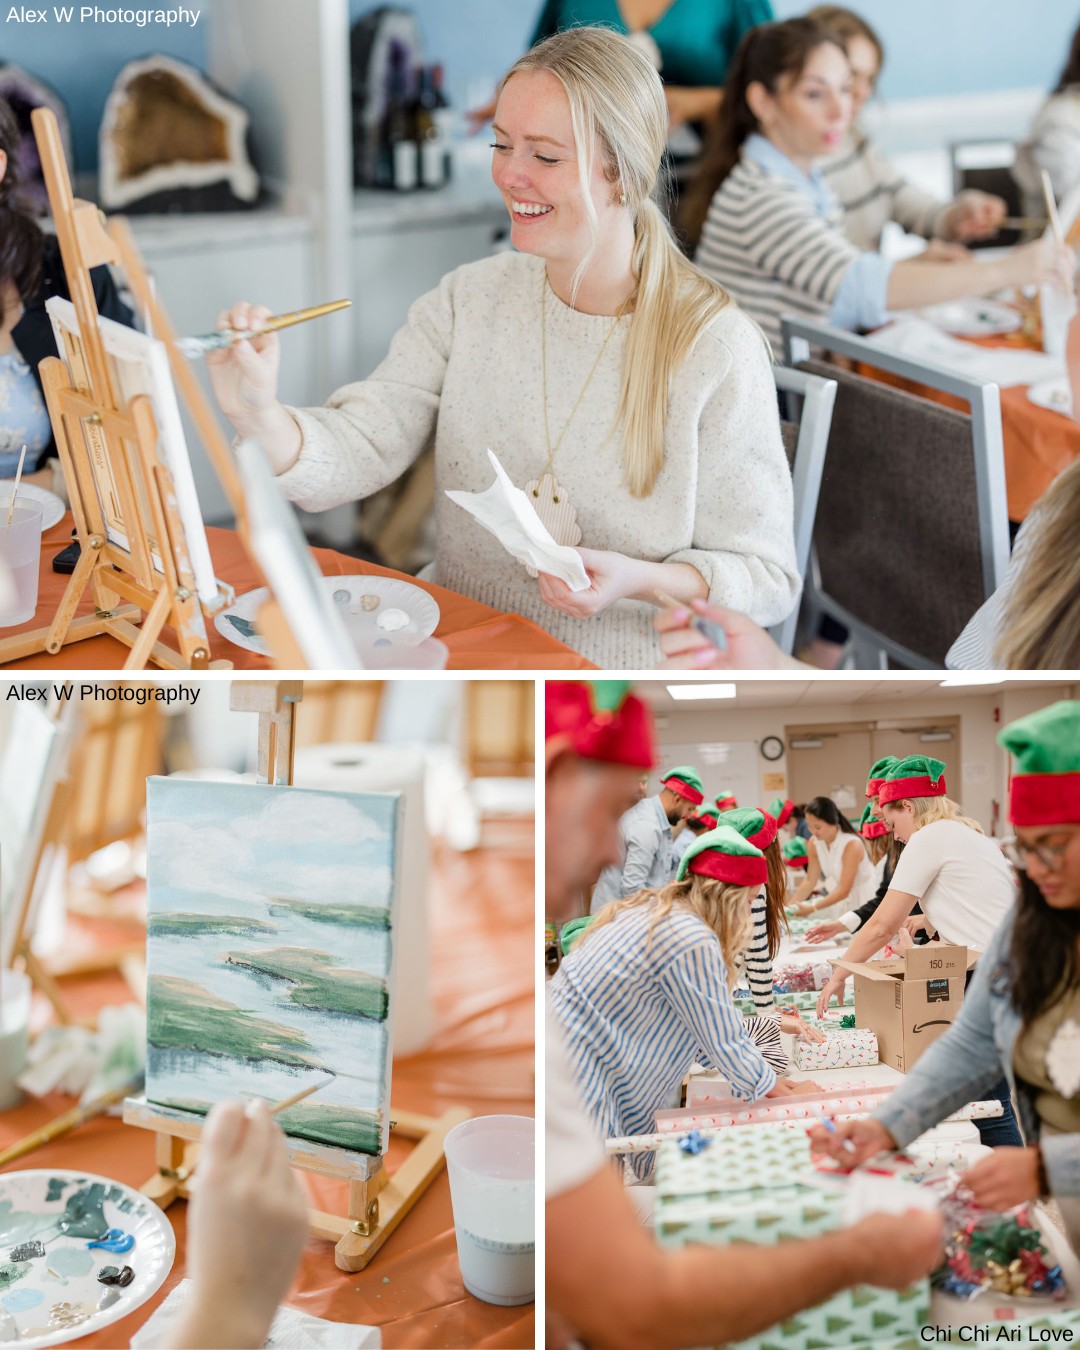
[[[570,100],[585,209],[593,246],[574,274],[571,304],[598,242],[590,182],[593,157],[633,212],[634,316],[626,340],[616,424],[622,424],[624,481],[633,497],[648,497],[664,467],[664,431],[671,382],[705,328],[726,305],[728,292],[697,269],[675,243],[657,205],[667,144],[667,105],[649,59],[610,28],[556,32],[506,72],[547,70]],[[764,339],[763,339],[764,340]]]

